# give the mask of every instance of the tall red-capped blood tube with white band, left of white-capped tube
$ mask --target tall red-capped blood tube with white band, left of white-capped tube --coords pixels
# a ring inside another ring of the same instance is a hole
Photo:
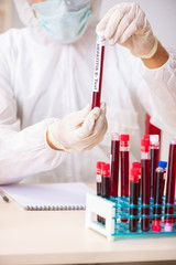
[[[150,230],[150,140],[147,139],[141,140],[141,202],[145,205],[142,206],[142,214],[148,215],[141,219],[141,230],[147,232]]]

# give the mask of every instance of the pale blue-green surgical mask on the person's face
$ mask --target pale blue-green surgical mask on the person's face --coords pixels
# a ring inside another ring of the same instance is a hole
[[[33,4],[38,24],[61,44],[77,41],[86,31],[90,17],[88,0],[47,0]]]

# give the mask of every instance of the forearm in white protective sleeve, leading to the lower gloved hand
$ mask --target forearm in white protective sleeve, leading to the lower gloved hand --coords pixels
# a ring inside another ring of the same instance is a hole
[[[46,119],[20,130],[14,98],[0,89],[0,184],[57,167],[66,155],[46,142],[46,130],[54,120]]]

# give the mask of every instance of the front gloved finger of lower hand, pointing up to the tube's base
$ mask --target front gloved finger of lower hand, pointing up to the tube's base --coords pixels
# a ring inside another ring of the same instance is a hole
[[[88,137],[91,135],[95,123],[98,119],[100,115],[100,108],[95,107],[86,117],[85,121],[82,125],[76,130],[76,136],[80,139]]]

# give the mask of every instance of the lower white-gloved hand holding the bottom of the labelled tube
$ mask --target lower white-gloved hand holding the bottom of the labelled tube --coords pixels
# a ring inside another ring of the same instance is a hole
[[[90,150],[107,131],[106,104],[91,110],[91,106],[72,113],[50,125],[47,138],[52,145],[65,151]]]

